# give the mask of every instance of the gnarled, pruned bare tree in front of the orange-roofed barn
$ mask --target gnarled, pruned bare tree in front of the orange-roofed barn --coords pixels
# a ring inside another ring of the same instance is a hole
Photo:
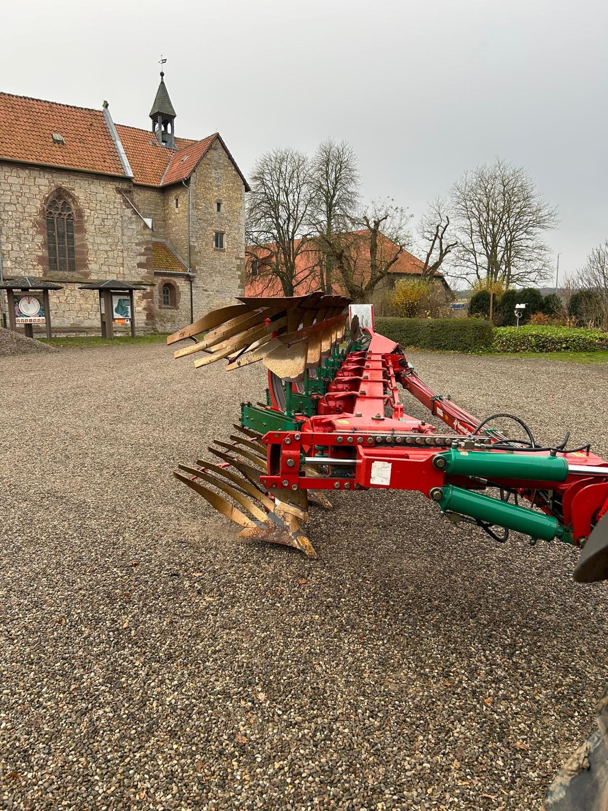
[[[392,200],[374,202],[357,217],[350,218],[351,230],[341,234],[319,234],[326,254],[331,255],[340,284],[355,302],[366,302],[376,285],[387,276],[400,254],[411,242],[405,208]]]

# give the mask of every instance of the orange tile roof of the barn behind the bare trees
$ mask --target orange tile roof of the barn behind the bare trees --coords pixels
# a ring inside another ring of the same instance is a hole
[[[357,250],[357,271],[362,274],[362,278],[365,277],[369,278],[370,274],[370,256],[369,256],[369,248],[368,248],[368,240],[365,239],[366,231],[353,231],[353,234],[356,234],[362,237],[361,242],[358,243],[356,250]],[[386,237],[382,237],[387,247],[394,246],[395,251],[398,250],[398,247],[394,245],[390,240]],[[296,242],[298,245],[298,241]],[[268,245],[268,250],[272,250],[274,246]],[[248,296],[280,296],[283,295],[281,292],[282,288],[280,285],[280,281],[276,276],[271,276],[268,273],[263,272],[263,256],[264,252],[263,249],[258,249],[255,251],[253,248],[247,248],[246,252],[249,254],[249,259],[247,260],[247,274],[246,274],[246,281],[245,281],[245,293]],[[251,254],[256,253],[260,257],[259,262],[259,275],[252,276],[250,273],[250,266],[251,266]],[[387,258],[390,254],[387,253]],[[395,273],[399,276],[422,276],[422,270],[424,268],[424,262],[419,260],[417,256],[409,253],[409,251],[401,251],[400,254],[397,256],[396,261],[391,265],[389,268],[389,273]],[[338,275],[337,272],[335,275]],[[441,281],[445,281],[443,279],[443,273],[440,273],[438,270],[434,273],[435,278]],[[334,281],[333,285],[333,292],[335,294],[344,295],[345,289],[340,285],[340,280],[337,279]],[[320,277],[319,277],[319,253],[315,250],[314,247],[306,248],[300,254],[298,254],[298,258],[296,259],[296,278],[295,278],[295,290],[293,291],[294,295],[305,295],[308,293],[313,293],[315,290],[320,289]]]

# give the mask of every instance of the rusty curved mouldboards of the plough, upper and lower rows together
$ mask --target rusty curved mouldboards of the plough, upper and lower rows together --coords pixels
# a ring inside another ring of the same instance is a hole
[[[237,433],[229,436],[229,441],[216,440],[208,448],[217,457],[215,461],[199,459],[195,467],[180,465],[175,475],[241,526],[239,535],[243,538],[296,547],[316,557],[302,522],[308,521],[309,503],[325,508],[331,504],[323,493],[312,493],[309,498],[306,489],[298,487],[267,489],[263,483],[268,472],[263,429],[267,424],[296,426],[296,421],[286,414],[285,405],[281,408],[277,404],[274,392],[280,397],[285,391],[281,387],[288,381],[289,386],[297,388],[306,376],[314,379],[323,363],[336,355],[336,347],[344,341],[348,299],[311,294],[297,298],[240,298],[239,302],[208,313],[169,336],[167,342],[193,340],[174,354],[176,358],[195,355],[195,367],[223,358],[229,369],[263,361],[272,396],[266,405],[242,406],[242,422],[234,426]],[[308,475],[316,474],[315,469],[308,470]]]

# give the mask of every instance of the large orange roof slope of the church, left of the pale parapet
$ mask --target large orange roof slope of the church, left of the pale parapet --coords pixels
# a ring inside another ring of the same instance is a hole
[[[99,109],[0,93],[0,122],[0,159],[124,177]],[[65,144],[53,143],[54,132]]]

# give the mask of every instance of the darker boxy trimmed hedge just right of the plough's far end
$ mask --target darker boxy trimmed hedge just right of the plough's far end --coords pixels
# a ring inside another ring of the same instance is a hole
[[[481,318],[377,318],[375,330],[401,346],[457,352],[489,348],[493,333]]]

